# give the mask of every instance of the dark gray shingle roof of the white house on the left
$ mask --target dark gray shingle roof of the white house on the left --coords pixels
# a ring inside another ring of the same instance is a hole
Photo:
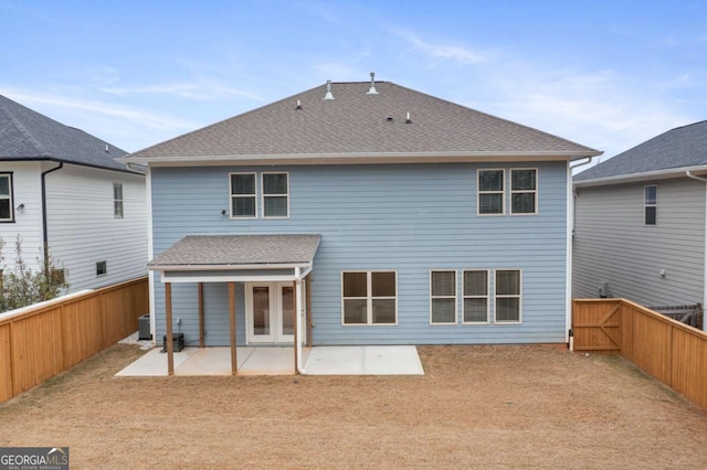
[[[114,160],[125,154],[125,150],[0,95],[0,161],[54,160],[126,171],[125,164]]]

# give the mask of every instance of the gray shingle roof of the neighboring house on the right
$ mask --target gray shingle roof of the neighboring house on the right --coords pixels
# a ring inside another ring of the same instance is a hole
[[[574,181],[707,164],[707,120],[668,130],[574,175]]]

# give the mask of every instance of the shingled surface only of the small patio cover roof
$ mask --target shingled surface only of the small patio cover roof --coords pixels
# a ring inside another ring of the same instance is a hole
[[[312,263],[319,235],[190,235],[157,256],[148,267],[278,265]]]

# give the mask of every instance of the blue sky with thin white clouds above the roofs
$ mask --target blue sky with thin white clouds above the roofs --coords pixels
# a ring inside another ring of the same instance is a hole
[[[707,0],[0,0],[0,94],[127,151],[394,82],[604,151],[707,119]]]

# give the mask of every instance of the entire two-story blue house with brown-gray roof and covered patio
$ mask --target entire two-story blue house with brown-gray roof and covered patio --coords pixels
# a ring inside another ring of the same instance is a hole
[[[133,153],[157,341],[567,342],[570,162],[600,153],[372,74]]]

